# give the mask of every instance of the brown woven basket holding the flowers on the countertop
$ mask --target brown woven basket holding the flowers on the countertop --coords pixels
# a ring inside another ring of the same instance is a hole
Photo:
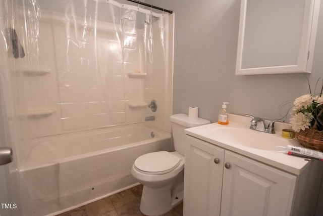
[[[323,131],[305,129],[295,133],[296,140],[304,147],[323,151]]]

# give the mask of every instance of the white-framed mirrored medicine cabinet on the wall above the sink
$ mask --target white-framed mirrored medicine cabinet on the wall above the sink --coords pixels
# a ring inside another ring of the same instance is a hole
[[[241,0],[236,75],[310,73],[319,0]]]

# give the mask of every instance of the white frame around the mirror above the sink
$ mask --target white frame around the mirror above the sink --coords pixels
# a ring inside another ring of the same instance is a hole
[[[302,36],[296,65],[241,68],[248,0],[241,0],[236,75],[310,73],[312,69],[320,0],[305,0]]]

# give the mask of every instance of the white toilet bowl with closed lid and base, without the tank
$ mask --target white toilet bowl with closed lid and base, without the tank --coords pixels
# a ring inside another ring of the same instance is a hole
[[[165,164],[165,166],[154,166],[155,161],[163,158],[166,163],[160,164]],[[138,159],[139,161],[146,160],[147,167],[138,162]],[[178,174],[183,170],[184,156],[177,152],[152,152],[137,158],[132,166],[131,174],[144,186],[140,202],[142,213],[146,215],[164,214],[181,201],[176,198],[172,200],[170,192]]]

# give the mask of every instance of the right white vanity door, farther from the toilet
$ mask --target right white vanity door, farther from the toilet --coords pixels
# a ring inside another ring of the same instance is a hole
[[[221,215],[290,215],[295,176],[227,150],[225,163]]]

